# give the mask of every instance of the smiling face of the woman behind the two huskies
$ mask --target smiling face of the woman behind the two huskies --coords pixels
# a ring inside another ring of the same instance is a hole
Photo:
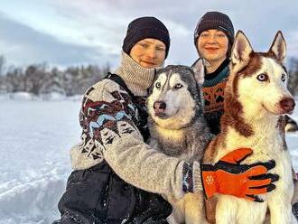
[[[200,57],[210,63],[221,63],[227,58],[228,37],[219,30],[208,30],[200,33],[197,41]]]

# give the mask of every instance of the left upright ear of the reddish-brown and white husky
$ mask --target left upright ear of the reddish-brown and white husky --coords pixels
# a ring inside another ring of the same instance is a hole
[[[253,49],[247,40],[247,36],[242,31],[238,31],[231,54],[233,70],[241,70],[247,66],[252,52]]]

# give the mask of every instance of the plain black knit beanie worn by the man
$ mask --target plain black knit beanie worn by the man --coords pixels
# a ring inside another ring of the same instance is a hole
[[[126,38],[122,46],[123,51],[129,54],[135,43],[145,38],[163,42],[165,58],[167,57],[170,48],[170,34],[165,25],[155,17],[140,17],[128,24]]]

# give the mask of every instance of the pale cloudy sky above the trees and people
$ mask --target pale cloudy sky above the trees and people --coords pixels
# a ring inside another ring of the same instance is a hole
[[[190,65],[197,57],[193,31],[208,11],[228,14],[256,51],[267,51],[281,30],[288,56],[298,57],[297,0],[1,0],[0,54],[6,64],[55,66],[119,63],[127,24],[153,15],[171,34],[166,64]]]

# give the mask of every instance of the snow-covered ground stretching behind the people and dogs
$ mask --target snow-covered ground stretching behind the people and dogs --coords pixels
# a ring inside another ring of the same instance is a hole
[[[1,224],[48,224],[59,218],[69,149],[79,141],[79,104],[0,97]],[[298,109],[292,117],[298,120]],[[298,133],[288,134],[287,143],[298,171]]]

